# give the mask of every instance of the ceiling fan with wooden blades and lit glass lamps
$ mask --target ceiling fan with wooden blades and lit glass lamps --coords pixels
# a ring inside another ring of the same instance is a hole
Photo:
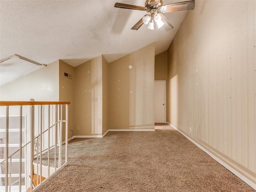
[[[162,0],[146,0],[145,6],[136,6],[130,4],[116,3],[115,7],[132,9],[139,11],[146,11],[148,14],[144,15],[131,29],[138,30],[143,24],[148,24],[148,29],[154,29],[154,22],[158,28],[165,25],[165,30],[171,30],[172,24],[165,18],[162,13],[174,12],[174,11],[186,11],[193,10],[195,8],[195,0],[184,1],[179,3],[172,3],[163,5]]]

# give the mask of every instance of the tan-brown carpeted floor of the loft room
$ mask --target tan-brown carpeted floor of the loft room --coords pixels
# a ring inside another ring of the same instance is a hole
[[[255,191],[168,124],[74,138],[68,150],[68,166],[37,192]]]

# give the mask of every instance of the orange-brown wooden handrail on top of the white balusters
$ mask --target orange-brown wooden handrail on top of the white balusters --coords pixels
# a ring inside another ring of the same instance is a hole
[[[70,102],[62,101],[0,101],[0,106],[20,106],[20,105],[65,105]]]

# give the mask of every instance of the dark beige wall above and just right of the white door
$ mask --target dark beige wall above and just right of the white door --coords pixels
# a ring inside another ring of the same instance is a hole
[[[168,50],[155,56],[155,80],[165,80],[166,81],[166,98],[168,94]],[[166,99],[166,105],[168,105],[168,100]],[[167,108],[166,108],[166,117]]]

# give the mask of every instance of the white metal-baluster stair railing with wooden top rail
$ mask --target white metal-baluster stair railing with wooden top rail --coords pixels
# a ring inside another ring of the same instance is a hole
[[[68,104],[0,101],[0,192],[34,191],[66,165]]]

